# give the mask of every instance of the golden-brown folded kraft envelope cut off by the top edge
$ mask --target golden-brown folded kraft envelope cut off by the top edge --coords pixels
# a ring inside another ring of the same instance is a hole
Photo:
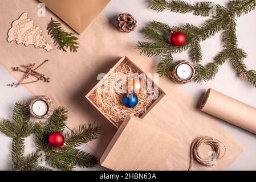
[[[78,34],[101,13],[111,0],[39,0]]]

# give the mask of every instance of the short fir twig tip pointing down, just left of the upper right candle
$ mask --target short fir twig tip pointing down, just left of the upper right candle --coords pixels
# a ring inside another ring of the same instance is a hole
[[[157,73],[160,76],[170,77],[170,71],[172,70],[173,57],[170,52],[163,53],[160,56],[160,62],[157,65]]]

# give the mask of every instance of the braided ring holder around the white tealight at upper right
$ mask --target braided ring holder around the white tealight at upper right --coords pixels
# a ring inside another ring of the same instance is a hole
[[[177,68],[181,64],[188,64],[192,68],[193,75],[188,80],[184,80],[184,79],[178,77],[178,75],[177,75]],[[172,71],[171,71],[171,77],[172,77],[172,80],[174,82],[176,82],[177,84],[186,84],[186,83],[192,81],[194,79],[194,74],[195,74],[194,66],[191,63],[189,63],[189,61],[180,60],[173,64]]]

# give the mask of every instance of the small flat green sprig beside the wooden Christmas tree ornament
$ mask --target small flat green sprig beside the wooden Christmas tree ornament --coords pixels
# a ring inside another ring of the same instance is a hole
[[[78,38],[75,34],[68,33],[62,29],[61,24],[52,20],[47,26],[48,35],[51,35],[51,38],[54,39],[55,46],[58,44],[58,49],[67,52],[66,48],[70,48],[71,52],[77,52],[78,49]]]

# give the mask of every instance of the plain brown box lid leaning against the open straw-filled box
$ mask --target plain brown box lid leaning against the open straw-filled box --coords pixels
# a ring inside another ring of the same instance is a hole
[[[129,115],[117,130],[100,164],[112,170],[157,170],[177,144],[177,139]]]

